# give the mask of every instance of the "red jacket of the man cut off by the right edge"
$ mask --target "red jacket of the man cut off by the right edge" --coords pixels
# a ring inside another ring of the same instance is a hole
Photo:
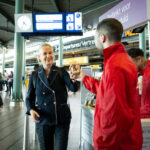
[[[150,61],[146,68],[141,72],[142,80],[142,96],[141,96],[141,118],[150,118]]]

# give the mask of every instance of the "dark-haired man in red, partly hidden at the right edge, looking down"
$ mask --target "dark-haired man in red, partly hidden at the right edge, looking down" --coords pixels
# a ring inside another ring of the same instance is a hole
[[[143,76],[141,96],[141,118],[150,118],[150,60],[144,58],[144,52],[139,48],[128,50],[129,56]]]

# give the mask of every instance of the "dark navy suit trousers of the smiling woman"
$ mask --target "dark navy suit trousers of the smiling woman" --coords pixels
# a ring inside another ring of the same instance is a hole
[[[70,124],[54,126],[36,124],[40,150],[54,150],[54,147],[55,150],[67,150],[69,128]]]

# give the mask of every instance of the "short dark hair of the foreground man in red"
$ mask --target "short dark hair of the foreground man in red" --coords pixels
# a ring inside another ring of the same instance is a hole
[[[99,34],[105,34],[112,42],[120,42],[123,33],[123,26],[117,19],[107,18],[97,25],[97,32]]]

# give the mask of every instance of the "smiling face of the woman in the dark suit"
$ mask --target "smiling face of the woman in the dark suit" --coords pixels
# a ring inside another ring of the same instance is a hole
[[[41,60],[44,68],[50,68],[54,60],[53,48],[50,45],[42,46],[40,49],[39,59]]]

